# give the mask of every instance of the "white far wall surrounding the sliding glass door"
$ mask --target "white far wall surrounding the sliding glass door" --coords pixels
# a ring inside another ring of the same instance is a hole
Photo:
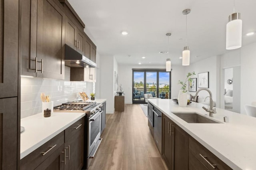
[[[132,69],[165,69],[165,65],[119,65],[118,77],[119,84],[124,88],[124,103],[132,104]],[[182,66],[172,66],[171,73],[171,98],[178,97],[180,87],[178,87],[178,79],[183,75]]]

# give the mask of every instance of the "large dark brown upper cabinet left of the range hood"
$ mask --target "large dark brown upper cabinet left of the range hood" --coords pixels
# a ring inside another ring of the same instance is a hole
[[[64,79],[66,16],[61,8],[56,0],[22,0],[22,75]]]

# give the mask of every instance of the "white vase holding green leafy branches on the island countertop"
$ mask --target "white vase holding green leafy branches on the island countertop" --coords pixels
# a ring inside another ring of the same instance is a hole
[[[186,83],[188,82],[188,84],[189,84],[192,81],[192,79],[191,79],[192,75],[196,75],[194,71],[192,73],[188,73],[187,78],[184,82],[180,81],[180,80],[178,82],[178,84],[182,85],[180,88],[179,95],[178,95],[178,103],[179,103],[179,106],[181,106],[181,107],[186,107],[188,104],[188,97],[187,97],[187,90],[186,90],[187,84]]]

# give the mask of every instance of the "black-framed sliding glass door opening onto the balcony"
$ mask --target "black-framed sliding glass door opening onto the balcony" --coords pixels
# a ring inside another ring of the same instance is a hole
[[[132,103],[145,103],[144,94],[169,99],[170,76],[164,69],[133,69]]]

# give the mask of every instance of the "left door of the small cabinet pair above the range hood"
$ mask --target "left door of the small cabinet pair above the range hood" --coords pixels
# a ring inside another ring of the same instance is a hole
[[[70,21],[70,19],[68,19],[68,17],[66,17],[65,43],[73,49],[76,49],[76,26],[72,21]]]

